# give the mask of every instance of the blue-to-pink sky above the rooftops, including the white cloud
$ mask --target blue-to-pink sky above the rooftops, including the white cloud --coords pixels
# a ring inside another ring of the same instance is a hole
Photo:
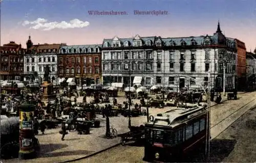
[[[213,35],[220,21],[226,37],[256,47],[256,0],[0,0],[1,45],[102,44],[104,38]],[[134,11],[150,11],[138,15]],[[95,15],[92,11],[119,12]],[[154,12],[155,11],[155,12]],[[90,13],[91,15],[90,15]],[[160,14],[156,14],[156,13]]]

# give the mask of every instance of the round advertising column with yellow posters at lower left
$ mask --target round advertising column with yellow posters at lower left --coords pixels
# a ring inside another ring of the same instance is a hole
[[[25,101],[19,106],[19,159],[35,157],[33,120],[35,105]]]

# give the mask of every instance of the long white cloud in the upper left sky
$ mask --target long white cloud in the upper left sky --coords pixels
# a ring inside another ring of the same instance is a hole
[[[44,18],[37,18],[34,21],[25,20],[22,25],[30,25],[30,29],[42,30],[42,31],[50,31],[53,29],[74,29],[74,28],[84,28],[88,26],[90,23],[88,21],[81,21],[79,19],[72,19],[70,22],[66,21],[53,21],[49,22]]]

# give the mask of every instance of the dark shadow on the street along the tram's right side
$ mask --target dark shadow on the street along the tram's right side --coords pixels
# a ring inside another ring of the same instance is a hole
[[[236,140],[227,139],[215,139],[210,142],[210,160],[209,162],[222,162],[225,157],[227,157],[236,145]],[[196,152],[191,152],[189,155],[184,157],[182,162],[207,162],[207,157],[205,156],[205,149],[200,148],[194,150]],[[199,152],[200,151],[200,152]]]

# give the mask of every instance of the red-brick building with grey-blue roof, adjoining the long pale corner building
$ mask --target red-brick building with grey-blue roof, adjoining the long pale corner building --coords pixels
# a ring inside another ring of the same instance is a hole
[[[62,46],[58,53],[58,78],[78,85],[101,83],[101,45]],[[75,79],[74,79],[75,78]]]

